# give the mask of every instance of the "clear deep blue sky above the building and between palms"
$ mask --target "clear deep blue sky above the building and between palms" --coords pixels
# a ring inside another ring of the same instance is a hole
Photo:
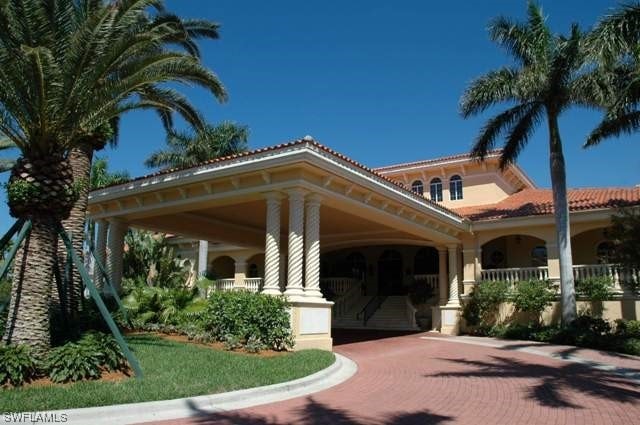
[[[521,19],[525,0],[482,1],[238,1],[168,0],[183,17],[222,25],[221,39],[202,45],[206,64],[227,87],[216,103],[186,93],[212,122],[233,120],[251,129],[252,148],[306,134],[369,166],[433,158],[469,150],[488,118],[463,120],[458,101],[466,85],[508,57],[488,39],[498,15]],[[617,2],[542,1],[555,31],[571,22],[591,26]],[[573,110],[561,121],[570,187],[640,184],[640,134],[583,150],[596,112]],[[149,172],[149,154],[164,145],[151,113],[122,121],[112,169]],[[541,127],[520,165],[550,185],[547,132]],[[3,203],[4,204],[4,203]],[[10,217],[0,209],[0,230]]]

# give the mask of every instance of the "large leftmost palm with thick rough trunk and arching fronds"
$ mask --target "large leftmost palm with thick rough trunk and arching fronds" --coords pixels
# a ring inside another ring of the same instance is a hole
[[[132,110],[154,109],[165,124],[173,113],[200,124],[197,111],[166,83],[195,84],[225,98],[193,41],[212,30],[213,24],[186,25],[164,12],[162,0],[3,2],[0,134],[22,155],[7,198],[14,217],[32,222],[14,266],[4,341],[29,344],[36,353],[50,345],[57,226],[88,186],[88,178],[74,183],[69,151],[102,146]]]

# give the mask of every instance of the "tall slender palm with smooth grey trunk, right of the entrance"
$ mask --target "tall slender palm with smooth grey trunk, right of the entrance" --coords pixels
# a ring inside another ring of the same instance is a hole
[[[581,72],[583,36],[575,24],[568,37],[553,34],[541,8],[533,2],[528,4],[526,23],[499,17],[492,21],[489,33],[494,42],[513,56],[515,64],[474,80],[462,97],[461,112],[467,118],[502,103],[510,107],[487,121],[472,154],[484,159],[497,140],[504,136],[500,158],[504,169],[517,159],[536,127],[546,120],[560,257],[562,321],[568,324],[576,318],[576,301],[565,160],[558,117],[574,105],[596,106],[590,97],[590,80]]]

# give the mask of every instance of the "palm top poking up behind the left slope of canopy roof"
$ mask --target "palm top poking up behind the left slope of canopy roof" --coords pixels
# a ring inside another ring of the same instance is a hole
[[[195,133],[170,133],[165,150],[153,153],[145,161],[152,168],[186,168],[212,158],[229,156],[247,150],[249,129],[224,121],[216,126],[207,124]]]

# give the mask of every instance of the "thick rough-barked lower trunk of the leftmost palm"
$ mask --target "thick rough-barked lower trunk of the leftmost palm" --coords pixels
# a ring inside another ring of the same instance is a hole
[[[32,220],[31,234],[18,250],[3,341],[30,345],[36,355],[51,345],[49,305],[57,234],[50,220]]]

